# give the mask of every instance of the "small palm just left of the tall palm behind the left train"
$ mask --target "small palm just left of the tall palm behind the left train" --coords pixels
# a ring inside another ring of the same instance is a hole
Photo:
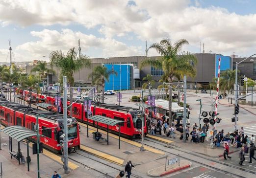
[[[32,68],[31,72],[38,72],[43,82],[45,82],[45,78],[49,73],[55,74],[55,71],[52,68],[47,68],[47,62],[45,61],[43,62],[39,61],[36,67]],[[44,86],[43,86],[43,89],[44,89]]]

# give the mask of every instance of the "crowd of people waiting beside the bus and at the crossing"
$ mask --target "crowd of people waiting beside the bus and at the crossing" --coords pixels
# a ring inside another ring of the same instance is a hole
[[[176,135],[179,135],[179,139],[183,139],[184,129],[183,126],[179,124],[179,119],[177,119],[177,123],[172,122],[169,124],[169,119],[165,120],[165,116],[162,119],[158,119],[155,122],[154,118],[148,118],[148,133],[155,135],[163,135],[171,138],[176,138]],[[186,140],[189,140],[191,136],[190,142],[199,143],[204,142],[205,137],[207,136],[207,131],[209,130],[209,124],[204,124],[202,128],[200,128],[196,123],[192,125],[192,129],[190,130],[189,126],[186,126]],[[255,154],[255,136],[252,134],[250,137],[245,134],[244,128],[241,127],[240,130],[236,130],[234,132],[224,133],[224,130],[217,132],[215,130],[211,136],[208,135],[209,141],[216,147],[220,147],[223,144],[224,147],[224,159],[227,160],[231,158],[229,156],[230,146],[240,148],[239,150],[239,158],[240,165],[243,165],[243,161],[245,160],[244,154],[249,153],[250,162],[252,163],[252,158],[256,160],[254,157]]]

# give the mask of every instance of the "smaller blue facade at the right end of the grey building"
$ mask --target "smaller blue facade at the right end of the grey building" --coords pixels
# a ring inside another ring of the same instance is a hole
[[[218,77],[218,67],[219,67],[219,58],[221,58],[221,66],[220,66],[220,73],[225,70],[232,70],[232,59],[230,56],[223,56],[221,54],[216,54],[215,59],[215,77]]]

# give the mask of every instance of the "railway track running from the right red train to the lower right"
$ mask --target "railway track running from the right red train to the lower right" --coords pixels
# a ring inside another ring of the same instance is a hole
[[[184,158],[184,159],[190,160],[190,161],[192,161],[192,162],[199,163],[199,164],[201,164],[201,165],[204,165],[205,167],[209,167],[209,168],[211,168],[211,169],[218,170],[218,171],[223,172],[223,173],[225,173],[225,174],[230,174],[230,175],[233,175],[233,176],[236,176],[236,177],[239,177],[239,178],[247,178],[247,177],[243,177],[243,176],[241,176],[241,175],[238,175],[238,174],[236,174],[236,173],[232,173],[232,172],[230,172],[230,171],[227,171],[227,170],[224,170],[224,169],[220,169],[220,168],[218,168],[218,167],[216,167],[216,166],[214,166],[214,165],[209,165],[209,164],[202,163],[202,161],[200,161],[200,160],[198,160],[198,159],[196,159],[196,158],[200,157],[200,158],[206,159],[206,160],[208,160],[208,161],[212,161],[212,162],[215,162],[215,163],[218,163],[218,164],[222,164],[222,165],[225,165],[225,166],[229,166],[229,167],[235,168],[235,169],[237,169],[237,170],[241,170],[241,171],[244,171],[244,172],[247,172],[247,173],[251,173],[251,174],[256,175],[256,171],[252,171],[252,170],[249,170],[249,169],[241,168],[241,167],[239,167],[239,166],[235,166],[235,165],[232,165],[232,164],[224,163],[224,162],[222,162],[222,161],[219,161],[219,160],[216,160],[216,159],[212,159],[212,158],[209,158],[209,157],[205,157],[205,156],[202,156],[202,155],[200,155],[200,154],[187,152],[187,151],[184,151],[184,149],[180,150],[181,148],[179,148],[179,147],[175,147],[175,146],[169,147],[169,146],[166,146],[166,144],[163,143],[163,142],[160,142],[160,141],[157,141],[157,140],[148,138],[148,137],[145,137],[144,140],[147,140],[147,141],[150,141],[150,142],[154,142],[154,143],[156,143],[157,145],[161,145],[161,146],[163,146],[163,147],[165,147],[165,148],[175,149],[175,150],[179,151],[180,153],[179,153],[179,154],[175,154],[175,153],[172,153],[172,152],[170,152],[170,151],[165,151],[165,150],[163,150],[163,149],[161,149],[161,148],[158,148],[158,147],[154,147],[155,149],[161,150],[161,151],[163,151],[163,152],[165,152],[165,153],[172,154],[172,155],[175,155],[175,156],[178,156],[178,155],[179,155],[179,157],[182,157],[182,158]],[[141,143],[141,141],[138,141],[138,140],[134,140],[134,141],[137,141],[137,142]],[[152,145],[147,144],[147,143],[145,143],[145,142],[144,142],[144,145],[147,145],[147,146],[151,146],[151,147],[152,147]],[[188,155],[190,155],[190,156],[180,156],[182,153],[183,153],[183,154],[188,154]],[[195,156],[196,156],[196,157],[195,157]]]

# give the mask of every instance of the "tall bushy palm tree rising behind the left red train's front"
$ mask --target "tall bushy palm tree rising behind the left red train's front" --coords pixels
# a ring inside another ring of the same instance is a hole
[[[77,57],[77,50],[75,47],[70,48],[66,55],[62,51],[52,51],[50,54],[51,66],[59,67],[60,75],[59,81],[60,84],[63,84],[63,76],[67,77],[67,81],[70,85],[70,105],[72,105],[73,99],[73,89],[75,79],[73,74],[79,71],[83,67],[90,67],[91,60],[85,54],[81,54]],[[72,116],[72,107],[70,107],[70,116]]]

